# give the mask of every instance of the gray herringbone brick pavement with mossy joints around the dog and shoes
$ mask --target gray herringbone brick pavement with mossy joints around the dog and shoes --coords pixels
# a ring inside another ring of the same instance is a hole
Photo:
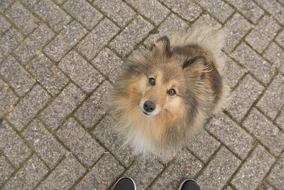
[[[123,60],[208,21],[226,31],[231,102],[170,162],[114,134]],[[284,189],[283,0],[1,0],[0,189]]]

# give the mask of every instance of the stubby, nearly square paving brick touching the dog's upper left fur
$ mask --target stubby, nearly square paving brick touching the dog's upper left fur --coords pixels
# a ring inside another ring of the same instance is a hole
[[[121,58],[116,56],[109,48],[104,48],[99,55],[92,60],[94,67],[107,76],[112,83],[114,83],[117,76],[121,73],[123,63]]]

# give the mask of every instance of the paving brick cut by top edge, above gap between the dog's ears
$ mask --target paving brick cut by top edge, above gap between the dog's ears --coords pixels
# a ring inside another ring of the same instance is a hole
[[[174,0],[163,0],[163,3],[170,9],[182,16],[187,21],[194,21],[200,16],[202,9],[192,1],[174,1]]]

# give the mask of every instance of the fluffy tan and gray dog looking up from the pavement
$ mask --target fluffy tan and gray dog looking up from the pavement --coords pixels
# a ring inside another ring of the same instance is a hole
[[[221,72],[223,38],[220,29],[194,25],[126,60],[111,114],[137,154],[173,157],[221,110],[229,92]]]

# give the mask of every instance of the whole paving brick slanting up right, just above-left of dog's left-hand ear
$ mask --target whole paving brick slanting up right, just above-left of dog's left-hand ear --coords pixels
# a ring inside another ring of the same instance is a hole
[[[147,34],[153,29],[151,23],[144,20],[141,16],[134,19],[119,36],[116,36],[109,44],[121,56],[126,56]]]

